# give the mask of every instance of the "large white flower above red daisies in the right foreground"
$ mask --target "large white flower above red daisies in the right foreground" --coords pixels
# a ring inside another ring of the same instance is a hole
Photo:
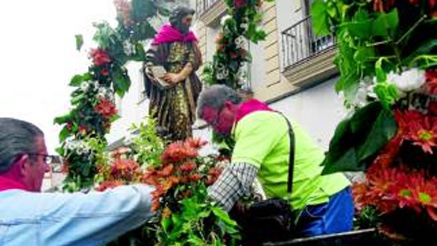
[[[420,88],[426,81],[425,70],[413,68],[402,74],[390,72],[387,82],[396,85],[401,92],[409,92]]]

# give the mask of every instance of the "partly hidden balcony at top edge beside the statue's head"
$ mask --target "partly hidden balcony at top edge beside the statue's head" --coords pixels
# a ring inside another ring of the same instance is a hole
[[[196,0],[196,13],[207,26],[215,26],[226,13],[226,4],[223,0]]]

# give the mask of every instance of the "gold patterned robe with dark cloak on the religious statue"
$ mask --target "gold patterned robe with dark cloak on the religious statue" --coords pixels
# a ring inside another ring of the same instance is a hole
[[[158,126],[172,141],[192,136],[196,120],[196,102],[202,84],[195,71],[201,66],[201,54],[195,43],[174,42],[152,45],[146,54],[146,66],[164,66],[169,73],[181,72],[187,63],[193,72],[182,82],[161,88],[145,73],[145,87],[150,99],[149,114],[156,118]]]

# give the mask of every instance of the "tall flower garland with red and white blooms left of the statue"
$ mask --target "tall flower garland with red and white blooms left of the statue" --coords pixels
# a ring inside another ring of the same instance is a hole
[[[114,93],[122,97],[131,84],[124,66],[128,61],[144,60],[143,42],[156,33],[149,20],[168,14],[152,0],[115,0],[114,4],[118,26],[112,28],[107,22],[94,24],[97,48],[89,51],[91,65],[88,72],[75,75],[70,82],[75,88],[73,108],[55,119],[56,124],[64,125],[57,151],[66,160],[65,189],[70,191],[93,185],[98,171],[96,151],[84,146],[89,146],[93,139],[106,145],[104,135],[118,118]],[[80,35],[76,35],[76,44],[80,50],[83,44]]]

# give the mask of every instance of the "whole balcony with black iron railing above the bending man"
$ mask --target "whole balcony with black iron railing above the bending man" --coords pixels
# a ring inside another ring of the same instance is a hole
[[[303,86],[337,73],[333,35],[317,37],[307,16],[281,33],[282,73],[294,85]]]

